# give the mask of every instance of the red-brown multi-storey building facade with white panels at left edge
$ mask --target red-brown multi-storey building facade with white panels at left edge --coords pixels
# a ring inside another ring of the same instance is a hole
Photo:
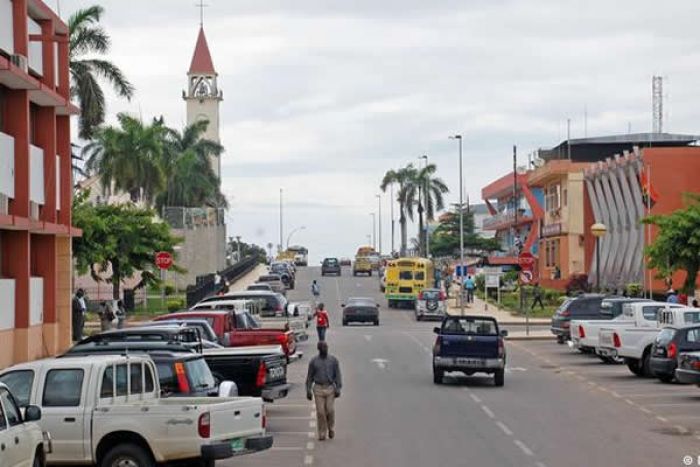
[[[71,343],[68,27],[0,0],[0,368]]]

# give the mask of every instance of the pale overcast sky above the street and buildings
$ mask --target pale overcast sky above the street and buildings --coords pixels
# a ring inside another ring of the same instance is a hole
[[[56,0],[47,0],[56,6]],[[61,0],[62,16],[94,1]],[[181,99],[199,28],[194,0],[106,0],[111,60],[136,86],[119,111],[185,123]],[[428,154],[459,197],[538,147],[651,128],[651,77],[665,78],[665,130],[699,133],[697,0],[206,0],[223,90],[229,235],[313,260],[367,242],[384,172]],[[584,114],[587,113],[587,125]],[[390,247],[388,195],[383,242]],[[415,236],[412,228],[410,236]],[[398,222],[396,239],[398,242]],[[286,242],[286,238],[285,238]],[[398,245],[398,243],[397,243]]]

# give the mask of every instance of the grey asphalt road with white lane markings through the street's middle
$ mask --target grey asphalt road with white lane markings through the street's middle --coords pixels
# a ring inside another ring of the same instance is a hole
[[[331,314],[327,340],[341,362],[344,391],[336,403],[337,437],[319,442],[304,397],[315,336],[290,365],[296,384],[270,404],[275,447],[230,466],[680,466],[699,465],[700,389],[634,377],[554,342],[507,344],[503,388],[487,376],[455,376],[435,386],[433,323],[390,310],[375,277],[320,277],[302,268],[291,299],[307,299],[312,279]],[[379,327],[342,327],[340,304],[371,296],[382,305]],[[683,456],[695,456],[684,464]]]

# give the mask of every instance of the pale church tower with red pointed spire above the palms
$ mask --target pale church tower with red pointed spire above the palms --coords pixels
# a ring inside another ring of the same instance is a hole
[[[187,91],[183,91],[182,97],[187,103],[187,124],[208,120],[209,126],[204,137],[219,143],[219,102],[223,100],[223,93],[219,90],[216,78],[204,27],[200,25],[190,71],[187,72]],[[211,156],[209,162],[216,176],[221,178],[220,158]]]

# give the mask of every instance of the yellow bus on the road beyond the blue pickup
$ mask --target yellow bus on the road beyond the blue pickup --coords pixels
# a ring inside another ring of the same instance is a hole
[[[389,308],[398,308],[402,303],[413,306],[418,294],[433,287],[434,283],[433,262],[429,259],[392,259],[386,266],[384,296]]]

